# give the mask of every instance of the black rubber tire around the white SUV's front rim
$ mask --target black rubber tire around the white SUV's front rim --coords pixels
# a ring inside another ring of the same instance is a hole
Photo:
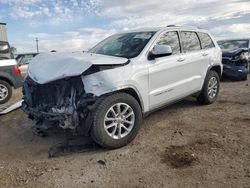
[[[111,138],[104,129],[104,118],[111,106],[116,103],[128,104],[135,113],[135,123],[131,132],[121,139]],[[141,108],[136,99],[128,94],[114,94],[104,98],[98,105],[93,115],[92,138],[105,148],[119,148],[130,143],[137,135],[142,121]]]

